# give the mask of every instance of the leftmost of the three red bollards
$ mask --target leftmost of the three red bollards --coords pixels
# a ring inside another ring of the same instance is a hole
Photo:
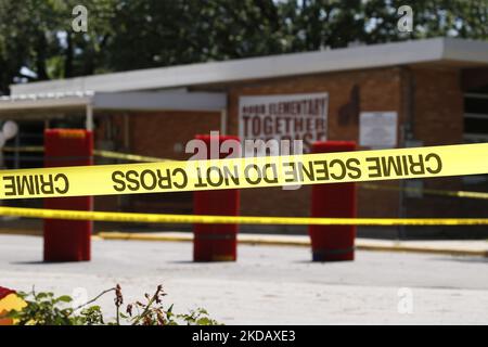
[[[93,134],[82,129],[44,131],[44,167],[93,165]],[[92,196],[44,198],[44,208],[92,210]],[[91,220],[44,219],[44,261],[90,260]]]

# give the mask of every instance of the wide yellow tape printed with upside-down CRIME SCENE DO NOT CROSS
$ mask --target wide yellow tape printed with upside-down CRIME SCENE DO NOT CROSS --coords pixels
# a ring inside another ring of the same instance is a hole
[[[0,171],[0,200],[249,189],[488,174],[488,143]]]

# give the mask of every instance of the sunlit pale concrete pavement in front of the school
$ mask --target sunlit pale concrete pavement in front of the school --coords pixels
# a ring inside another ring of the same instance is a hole
[[[0,235],[0,285],[92,297],[120,283],[129,303],[162,283],[176,311],[202,306],[226,324],[488,323],[480,257],[358,250],[354,262],[314,264],[308,247],[243,244],[237,262],[194,264],[188,242],[115,240],[92,254],[43,264],[40,237]],[[111,314],[112,296],[101,304]]]

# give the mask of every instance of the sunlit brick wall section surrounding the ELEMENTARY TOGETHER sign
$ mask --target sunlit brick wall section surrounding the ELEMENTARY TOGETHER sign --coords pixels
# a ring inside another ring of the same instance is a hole
[[[347,126],[341,126],[338,124],[339,108],[349,102],[351,89],[357,85],[360,90],[360,111],[397,111],[401,119],[400,72],[399,68],[344,72],[232,86],[229,88],[229,131],[235,134],[239,132],[240,95],[328,92],[330,98],[328,139],[358,141],[358,124],[351,121]],[[309,187],[303,187],[297,191],[283,191],[281,189],[244,190],[241,196],[243,215],[309,215]],[[360,216],[396,217],[398,215],[397,192],[359,189],[358,197]]]

